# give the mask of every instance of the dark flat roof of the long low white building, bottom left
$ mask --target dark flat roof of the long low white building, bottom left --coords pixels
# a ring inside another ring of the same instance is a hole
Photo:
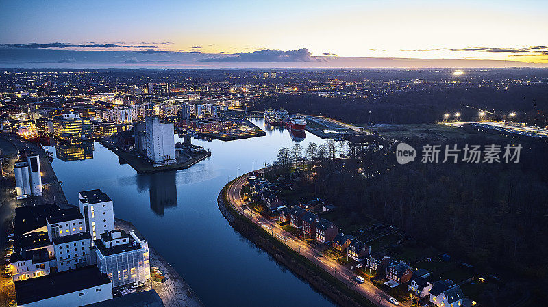
[[[108,279],[106,273],[101,273],[97,266],[90,265],[71,271],[49,274],[40,278],[16,281],[14,284],[17,304],[24,305],[66,293],[110,284],[110,279]]]

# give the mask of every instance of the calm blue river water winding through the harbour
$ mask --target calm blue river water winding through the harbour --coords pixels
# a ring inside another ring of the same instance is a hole
[[[334,306],[242,237],[219,212],[216,198],[229,178],[271,163],[284,146],[323,142],[310,133],[302,139],[282,128],[268,129],[262,120],[253,123],[267,135],[231,142],[192,139],[212,156],[187,170],[137,174],[99,143],[92,159],[55,159],[53,169],[72,204],[78,203],[79,191],[108,193],[114,215],[132,222],[206,306]]]

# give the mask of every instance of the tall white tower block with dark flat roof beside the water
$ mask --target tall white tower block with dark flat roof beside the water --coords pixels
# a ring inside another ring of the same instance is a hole
[[[80,213],[93,240],[101,233],[114,230],[114,206],[107,194],[95,189],[79,192],[78,197]]]

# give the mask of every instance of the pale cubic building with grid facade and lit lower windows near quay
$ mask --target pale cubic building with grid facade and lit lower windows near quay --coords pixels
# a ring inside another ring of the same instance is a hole
[[[97,267],[106,273],[116,288],[150,279],[149,245],[134,232],[123,230],[101,233],[95,240]]]

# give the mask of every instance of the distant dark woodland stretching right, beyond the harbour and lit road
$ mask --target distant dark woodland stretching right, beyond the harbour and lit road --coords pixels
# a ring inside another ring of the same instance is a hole
[[[497,118],[510,111],[516,120],[548,126],[548,86],[514,86],[508,90],[488,87],[448,88],[394,92],[367,98],[325,98],[316,95],[264,96],[250,109],[286,108],[290,113],[329,116],[343,122],[365,124],[416,124],[443,120],[446,112],[460,112],[463,120],[477,120],[477,109],[493,110]]]

